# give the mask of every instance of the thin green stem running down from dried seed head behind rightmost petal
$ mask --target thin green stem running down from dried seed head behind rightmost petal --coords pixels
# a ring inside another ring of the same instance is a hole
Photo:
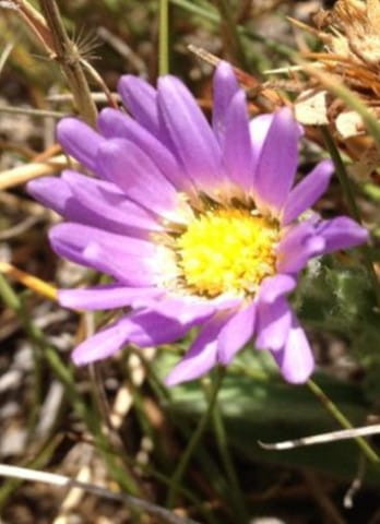
[[[341,154],[340,154],[340,152],[339,152],[339,150],[335,145],[335,142],[334,142],[334,140],[333,140],[333,138],[332,138],[332,135],[329,131],[329,128],[326,126],[323,126],[321,128],[321,132],[322,132],[322,136],[323,136],[323,140],[324,140],[325,146],[326,146],[326,148],[330,153],[330,156],[331,156],[331,158],[332,158],[332,160],[335,165],[336,176],[340,180],[343,192],[344,192],[345,198],[347,200],[349,212],[351,212],[352,216],[355,218],[355,221],[357,221],[359,224],[361,224],[363,221],[361,221],[359,209],[358,209],[358,206],[356,204],[356,201],[355,201],[355,195],[354,195],[354,191],[353,191],[353,188],[352,188],[352,182],[349,181],[348,174],[347,174],[346,167],[345,167],[345,165],[342,160]],[[378,279],[378,276],[376,274],[373,264],[371,262],[369,247],[364,246],[360,249],[361,249],[361,252],[364,254],[364,263],[366,265],[369,277],[371,279],[373,290],[375,290],[375,294],[376,294],[376,299],[377,299],[378,306],[380,308],[380,285],[379,285],[379,279]]]

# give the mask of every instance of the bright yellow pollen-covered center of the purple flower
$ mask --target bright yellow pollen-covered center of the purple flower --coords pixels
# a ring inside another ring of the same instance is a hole
[[[274,274],[277,240],[277,227],[249,210],[210,211],[178,237],[178,265],[186,285],[197,294],[250,295]]]

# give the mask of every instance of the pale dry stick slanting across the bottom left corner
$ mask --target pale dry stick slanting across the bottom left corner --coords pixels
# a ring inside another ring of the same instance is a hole
[[[44,483],[52,486],[59,486],[61,488],[80,488],[87,493],[93,493],[109,500],[123,502],[131,508],[143,510],[150,515],[157,516],[163,521],[167,522],[168,524],[200,524],[191,519],[179,517],[171,511],[168,511],[159,505],[152,504],[146,500],[139,499],[136,497],[132,497],[126,493],[116,493],[114,491],[109,491],[108,489],[103,488],[102,486],[96,486],[88,483],[81,483],[80,480],[66,477],[63,475],[57,475],[56,473],[38,472],[36,469],[28,469],[26,467],[0,464],[0,476]]]

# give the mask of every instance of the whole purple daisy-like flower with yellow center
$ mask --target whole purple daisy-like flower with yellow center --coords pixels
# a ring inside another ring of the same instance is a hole
[[[300,127],[288,108],[249,121],[225,62],[214,76],[212,127],[174,76],[157,90],[122,76],[119,92],[133,118],[107,108],[98,132],[74,118],[58,126],[64,151],[97,178],[66,170],[28,186],[67,221],[50,231],[54,250],[112,279],[60,290],[60,303],[131,309],[80,344],[74,362],[128,343],[170,343],[200,326],[168,384],[228,365],[252,341],[287,381],[304,382],[313,357],[286,295],[310,258],[367,239],[347,217],[305,213],[325,191],[332,163],[293,188]]]

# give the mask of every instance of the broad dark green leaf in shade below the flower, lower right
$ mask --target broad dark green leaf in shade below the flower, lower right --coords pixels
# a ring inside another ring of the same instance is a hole
[[[270,362],[271,357],[265,354],[263,358],[263,355],[247,349],[225,378],[218,405],[225,419],[229,445],[248,461],[311,467],[352,479],[359,460],[359,450],[354,441],[283,452],[260,448],[259,440],[277,442],[341,429],[306,386],[284,382]],[[156,364],[158,373],[165,377],[175,358],[164,353]],[[354,426],[365,424],[368,406],[359,386],[322,374],[317,374],[316,381]],[[199,381],[173,388],[170,396],[167,408],[179,426],[198,420],[206,407]],[[380,479],[371,467],[368,479],[371,483]]]

